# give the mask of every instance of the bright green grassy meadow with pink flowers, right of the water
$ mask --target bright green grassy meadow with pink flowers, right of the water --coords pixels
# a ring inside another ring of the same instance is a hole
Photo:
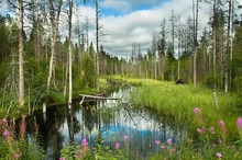
[[[150,108],[176,125],[188,126],[189,139],[175,146],[163,141],[151,159],[242,159],[242,110],[235,93],[216,92],[205,87],[156,80],[124,79],[139,84],[132,99],[136,107]]]

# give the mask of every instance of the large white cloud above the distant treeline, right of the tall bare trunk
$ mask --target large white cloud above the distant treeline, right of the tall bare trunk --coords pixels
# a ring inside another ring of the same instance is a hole
[[[111,48],[110,53],[113,55],[130,56],[132,44],[135,42],[141,45],[142,52],[146,53],[146,49],[151,46],[152,33],[160,31],[162,20],[164,18],[168,20],[172,10],[174,10],[176,16],[180,15],[185,23],[187,18],[191,15],[191,1],[174,0],[163,4],[160,3],[160,5],[155,5],[150,10],[138,10],[120,16],[105,16],[101,23],[106,33],[109,34],[108,42],[111,42],[105,45]],[[205,16],[207,15],[206,12],[202,11],[200,14]],[[200,21],[199,25],[204,28],[208,19],[206,16],[202,20],[206,21]],[[169,27],[169,23],[167,21],[167,27]]]

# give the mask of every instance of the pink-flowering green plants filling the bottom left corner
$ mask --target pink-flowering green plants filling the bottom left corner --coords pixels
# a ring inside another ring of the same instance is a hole
[[[25,135],[25,118],[22,118],[20,135],[14,132],[11,121],[6,118],[0,122],[0,159],[8,160],[43,160],[44,151],[37,142],[37,133],[33,137]]]

